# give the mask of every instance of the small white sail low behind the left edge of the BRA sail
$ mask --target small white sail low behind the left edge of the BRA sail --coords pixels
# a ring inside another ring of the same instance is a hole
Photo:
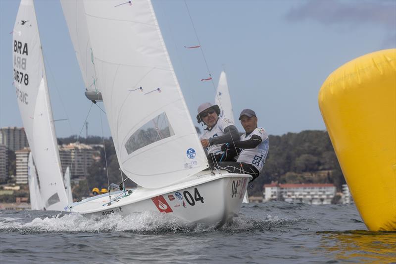
[[[39,180],[37,178],[36,167],[33,163],[32,153],[29,153],[28,160],[28,183],[30,207],[32,210],[43,210],[44,203],[40,193]]]

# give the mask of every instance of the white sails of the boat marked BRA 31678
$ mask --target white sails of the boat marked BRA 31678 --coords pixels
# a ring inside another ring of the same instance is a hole
[[[49,92],[36,13],[32,0],[22,0],[13,30],[14,86],[19,110],[40,180],[47,210],[64,210],[62,181]]]

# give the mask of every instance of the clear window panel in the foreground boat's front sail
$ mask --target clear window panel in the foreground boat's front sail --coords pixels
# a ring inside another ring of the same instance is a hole
[[[173,132],[166,113],[163,112],[135,131],[125,143],[125,148],[127,153],[131,154],[151,143],[173,135],[175,135],[175,132]]]

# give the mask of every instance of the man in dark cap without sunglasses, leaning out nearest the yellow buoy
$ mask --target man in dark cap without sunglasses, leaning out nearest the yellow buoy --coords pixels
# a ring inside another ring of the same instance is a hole
[[[242,110],[239,120],[245,129],[245,134],[241,136],[240,141],[221,146],[223,151],[241,149],[237,162],[220,162],[218,168],[232,173],[250,174],[253,176],[251,180],[253,181],[260,175],[268,155],[268,135],[264,128],[257,127],[257,116],[253,110]]]

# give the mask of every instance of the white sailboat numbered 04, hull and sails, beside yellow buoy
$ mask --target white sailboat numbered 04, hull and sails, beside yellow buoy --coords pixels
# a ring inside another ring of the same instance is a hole
[[[251,176],[208,169],[151,1],[61,5],[87,93],[102,99],[120,169],[139,186],[68,209],[155,211],[210,224],[237,215]]]

